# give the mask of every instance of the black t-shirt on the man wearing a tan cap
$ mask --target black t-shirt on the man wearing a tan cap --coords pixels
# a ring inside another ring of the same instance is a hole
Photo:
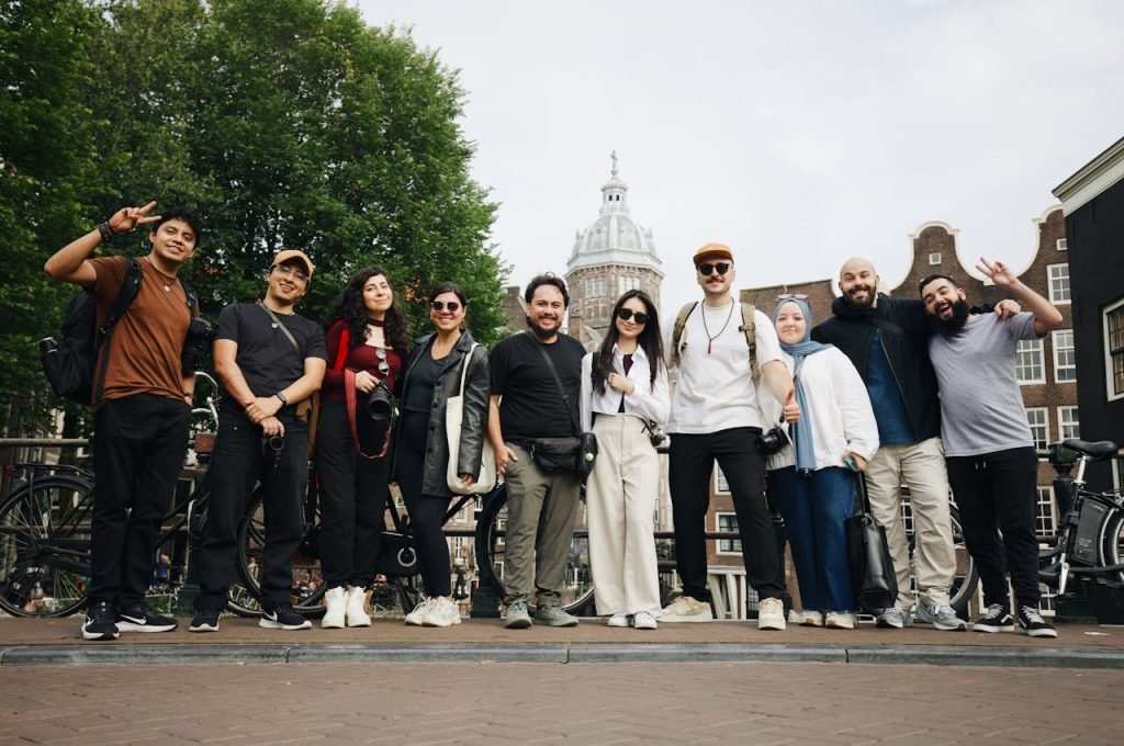
[[[238,345],[234,360],[255,397],[271,397],[302,376],[306,357],[328,360],[320,325],[296,313],[277,317],[300,345],[300,352],[257,303],[232,303],[218,317],[217,338]],[[293,425],[293,404],[278,411],[278,419],[285,427]],[[248,425],[250,418],[242,403],[228,395],[223,397],[219,407],[219,424]]]

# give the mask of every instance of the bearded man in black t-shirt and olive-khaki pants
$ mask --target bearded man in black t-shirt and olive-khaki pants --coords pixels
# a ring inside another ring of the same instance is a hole
[[[561,606],[565,561],[578,516],[581,481],[577,472],[545,472],[531,456],[536,438],[577,435],[581,358],[584,348],[560,334],[570,304],[565,283],[538,275],[524,292],[531,334],[502,339],[491,353],[491,416],[488,438],[496,466],[507,482],[507,538],[504,577],[507,626],[532,626],[527,601],[537,590],[535,621],[573,627],[578,618]],[[553,363],[562,391],[546,363]]]

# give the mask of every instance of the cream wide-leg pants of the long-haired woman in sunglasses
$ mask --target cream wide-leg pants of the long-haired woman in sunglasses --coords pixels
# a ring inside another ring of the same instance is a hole
[[[660,616],[655,501],[660,461],[644,424],[628,415],[598,415],[597,461],[586,482],[589,562],[600,615]]]

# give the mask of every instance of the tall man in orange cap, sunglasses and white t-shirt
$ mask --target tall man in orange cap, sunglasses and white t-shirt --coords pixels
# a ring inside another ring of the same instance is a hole
[[[777,583],[777,539],[765,507],[764,462],[756,449],[767,426],[758,406],[759,374],[782,402],[786,420],[799,419],[800,408],[769,317],[733,297],[736,271],[729,247],[707,244],[694,263],[703,302],[688,304],[668,325],[669,369],[679,371],[668,422],[668,476],[683,593],[663,610],[662,620],[714,619],[705,520],[717,461],[737,513],[746,580],[760,598],[758,628],[785,629],[785,589]]]

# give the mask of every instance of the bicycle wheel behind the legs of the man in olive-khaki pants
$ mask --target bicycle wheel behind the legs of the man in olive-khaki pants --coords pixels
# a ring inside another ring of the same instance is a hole
[[[584,503],[580,506],[579,510],[580,525],[574,528],[566,560],[562,607],[570,613],[581,615],[592,611],[593,580],[589,568],[589,529],[583,520]],[[506,536],[507,484],[500,484],[484,498],[473,542],[480,583],[488,584],[499,599],[502,599],[507,592],[504,586]]]

